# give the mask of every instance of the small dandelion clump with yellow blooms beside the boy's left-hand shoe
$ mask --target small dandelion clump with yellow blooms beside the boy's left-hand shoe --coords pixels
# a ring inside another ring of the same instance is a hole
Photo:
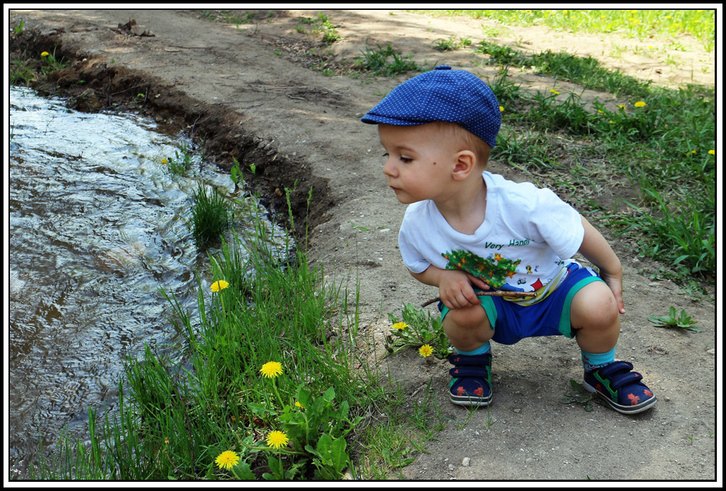
[[[444,358],[452,354],[449,338],[441,325],[441,317],[435,315],[432,318],[431,312],[419,310],[412,304],[405,305],[401,317],[402,321],[393,314],[388,314],[392,323],[391,334],[386,336],[386,350],[389,353],[413,346],[423,357],[434,354]]]

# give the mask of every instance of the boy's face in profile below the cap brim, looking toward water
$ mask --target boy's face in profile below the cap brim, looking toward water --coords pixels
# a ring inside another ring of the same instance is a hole
[[[436,201],[451,192],[456,152],[435,125],[379,124],[378,136],[386,149],[383,174],[401,203]]]

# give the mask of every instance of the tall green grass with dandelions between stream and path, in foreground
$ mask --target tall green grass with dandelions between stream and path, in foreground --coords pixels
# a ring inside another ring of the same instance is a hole
[[[402,415],[404,392],[359,359],[357,290],[349,303],[304,253],[282,267],[266,244],[261,234],[223,243],[193,308],[162,292],[180,337],[174,360],[150,346],[130,358],[121,404],[90,410],[89,441],[64,434],[30,478],[327,480],[409,462],[440,424],[431,391]],[[264,370],[269,362],[279,370]],[[269,446],[273,431],[289,445]],[[374,447],[383,461],[367,455]],[[229,469],[215,463],[227,451],[240,459]]]

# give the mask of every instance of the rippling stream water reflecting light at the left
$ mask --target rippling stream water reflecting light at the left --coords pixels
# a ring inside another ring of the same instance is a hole
[[[193,308],[199,283],[211,282],[189,232],[192,192],[204,182],[229,194],[234,184],[198,160],[188,176],[171,174],[162,159],[180,140],[139,116],[78,113],[12,88],[9,121],[12,464],[63,426],[82,437],[89,407],[115,405],[124,359],[144,342],[174,354],[180,340],[159,288]],[[282,230],[269,229],[282,247]]]

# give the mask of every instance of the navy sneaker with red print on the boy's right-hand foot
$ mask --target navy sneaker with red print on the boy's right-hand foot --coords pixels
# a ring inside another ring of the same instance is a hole
[[[599,394],[614,410],[635,414],[650,409],[658,402],[653,392],[641,380],[640,373],[631,371],[632,363],[612,362],[604,367],[585,372],[582,386],[592,394]]]

